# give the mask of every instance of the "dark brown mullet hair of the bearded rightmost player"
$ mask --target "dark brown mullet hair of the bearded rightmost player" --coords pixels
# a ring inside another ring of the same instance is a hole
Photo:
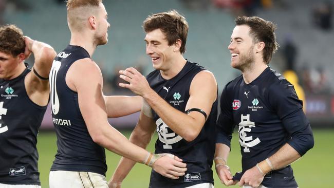
[[[247,25],[250,27],[250,35],[253,37],[254,42],[264,42],[265,47],[263,49],[263,60],[268,65],[272,54],[277,51],[280,47],[279,43],[276,42],[275,29],[276,25],[270,21],[265,21],[261,17],[242,16],[235,18],[235,24]]]

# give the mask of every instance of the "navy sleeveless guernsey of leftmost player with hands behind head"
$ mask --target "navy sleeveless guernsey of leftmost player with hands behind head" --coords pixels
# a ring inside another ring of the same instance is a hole
[[[23,73],[12,80],[0,79],[0,183],[41,185],[36,137],[46,106],[33,103]]]

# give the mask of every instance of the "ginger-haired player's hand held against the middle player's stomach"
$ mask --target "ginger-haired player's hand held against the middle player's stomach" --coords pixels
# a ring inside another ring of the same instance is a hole
[[[163,156],[157,159],[152,166],[155,172],[171,179],[178,179],[180,176],[184,176],[185,171],[187,171],[187,164],[183,163],[182,159],[171,154],[160,155]]]

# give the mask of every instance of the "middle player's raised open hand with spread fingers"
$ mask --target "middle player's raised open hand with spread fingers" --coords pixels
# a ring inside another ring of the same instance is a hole
[[[133,67],[120,70],[119,77],[129,84],[119,83],[119,86],[128,88],[139,96],[143,96],[145,91],[152,90],[146,78]]]

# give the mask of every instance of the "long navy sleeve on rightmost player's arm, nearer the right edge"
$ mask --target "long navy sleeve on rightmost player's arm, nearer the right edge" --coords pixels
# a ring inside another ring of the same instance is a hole
[[[301,156],[314,145],[312,130],[293,86],[286,80],[270,87],[269,101],[289,133],[287,143]]]

